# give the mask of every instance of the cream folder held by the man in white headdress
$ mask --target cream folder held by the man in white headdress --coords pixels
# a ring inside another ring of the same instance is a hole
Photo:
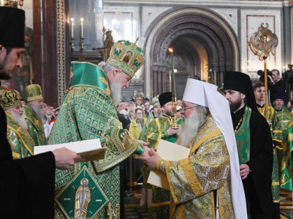
[[[188,158],[190,149],[161,139],[158,143],[157,152],[160,158],[165,161],[180,161]],[[170,190],[167,177],[157,170],[151,170],[147,182],[154,186]]]

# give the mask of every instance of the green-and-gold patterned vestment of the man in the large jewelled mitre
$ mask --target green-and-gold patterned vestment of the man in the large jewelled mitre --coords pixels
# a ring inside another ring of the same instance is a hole
[[[91,198],[88,206],[94,210],[87,211],[87,217],[108,218],[108,215],[112,214],[113,218],[119,218],[119,163],[135,150],[143,152],[143,147],[127,130],[122,129],[103,70],[91,63],[75,62],[72,63],[72,70],[70,88],[61,104],[48,144],[100,138],[102,146],[107,147],[108,150],[103,160],[77,163],[73,168],[65,171],[57,170],[57,197],[60,197],[59,194],[66,184],[70,184],[70,180],[86,165],[93,181],[100,186],[109,200],[109,203],[101,206],[100,209],[94,209],[97,200]],[[77,188],[74,187],[67,196],[75,199],[76,192]],[[74,209],[74,205],[65,209],[59,204],[56,207],[55,218],[65,218],[64,211],[72,213]]]

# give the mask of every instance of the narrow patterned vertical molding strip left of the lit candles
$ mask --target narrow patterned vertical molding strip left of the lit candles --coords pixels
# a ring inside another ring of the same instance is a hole
[[[66,12],[65,1],[57,0],[57,58],[58,58],[58,104],[66,90]]]

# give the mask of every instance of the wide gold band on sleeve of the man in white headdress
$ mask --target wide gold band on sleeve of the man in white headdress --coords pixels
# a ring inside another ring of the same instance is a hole
[[[200,185],[200,181],[198,181],[195,173],[193,172],[193,168],[189,163],[189,159],[183,159],[180,161],[181,168],[183,169],[184,175],[186,176],[189,185],[193,188],[193,192],[197,197],[200,195],[204,195],[204,190]]]

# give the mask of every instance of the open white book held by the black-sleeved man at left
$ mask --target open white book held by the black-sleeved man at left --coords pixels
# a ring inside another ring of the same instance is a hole
[[[82,156],[84,161],[94,161],[99,159],[105,159],[105,153],[107,152],[107,147],[102,147],[100,145],[100,139],[90,139],[90,140],[80,140],[73,143],[63,143],[58,145],[43,145],[36,146],[33,148],[33,154],[41,154],[44,152],[50,152],[54,149],[59,149],[61,147],[66,147],[73,152]]]

